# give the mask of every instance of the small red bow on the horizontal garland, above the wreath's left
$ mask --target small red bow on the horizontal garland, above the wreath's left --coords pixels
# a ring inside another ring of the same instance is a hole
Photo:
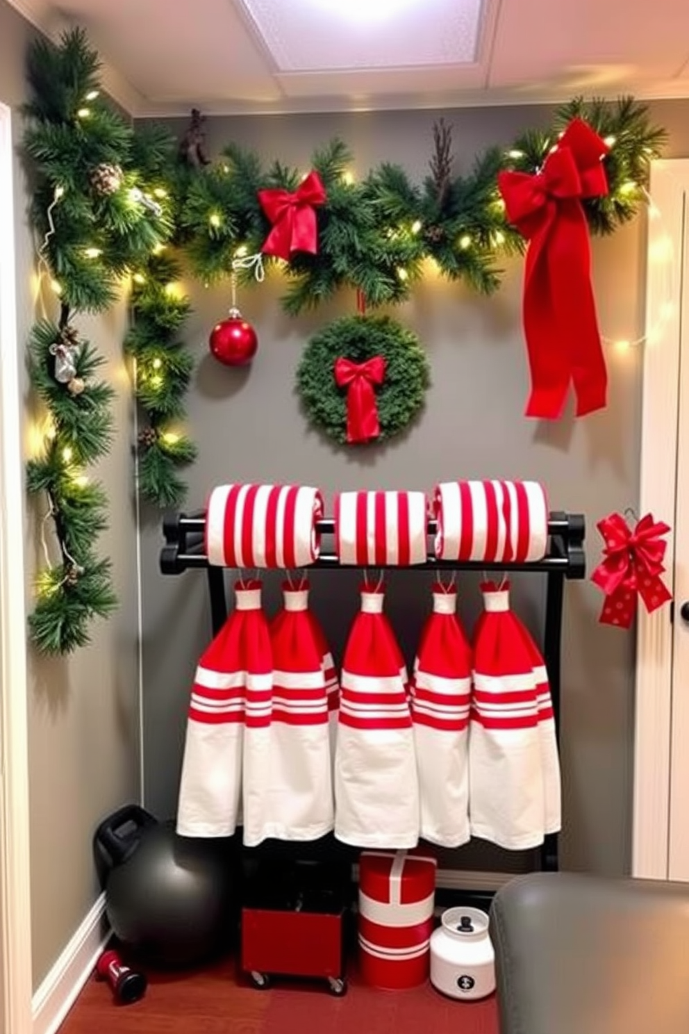
[[[326,200],[325,187],[318,173],[311,172],[302,180],[296,190],[281,188],[258,191],[258,201],[273,223],[265,238],[262,251],[267,255],[289,261],[292,251],[318,250],[315,205]]]

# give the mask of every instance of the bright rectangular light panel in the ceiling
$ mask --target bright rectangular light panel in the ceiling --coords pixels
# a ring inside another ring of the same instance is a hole
[[[239,0],[280,72],[466,65],[482,0]]]

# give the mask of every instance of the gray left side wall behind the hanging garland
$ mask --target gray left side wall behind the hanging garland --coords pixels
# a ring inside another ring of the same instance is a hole
[[[28,24],[0,0],[0,99],[17,110],[26,99],[24,59],[32,36]],[[18,347],[24,353],[34,317],[34,252],[27,227],[28,197],[18,158],[15,176]],[[50,304],[50,302],[49,302]],[[91,854],[97,821],[139,788],[138,669],[135,523],[129,503],[132,483],[129,385],[122,364],[127,310],[121,302],[102,318],[81,328],[107,358],[105,375],[117,389],[121,433],[100,464],[113,510],[100,548],[113,558],[120,609],[94,626],[93,644],[69,660],[46,661],[29,650],[29,765],[31,810],[31,924],[33,983],[37,986],[84,919],[99,888]],[[35,447],[35,414],[26,386],[26,456]],[[18,443],[18,448],[20,444]],[[42,506],[27,506],[27,601],[41,559]],[[19,546],[19,543],[18,543]],[[18,601],[18,606],[22,602]],[[7,688],[3,688],[3,692]],[[19,1032],[18,1032],[19,1034]]]

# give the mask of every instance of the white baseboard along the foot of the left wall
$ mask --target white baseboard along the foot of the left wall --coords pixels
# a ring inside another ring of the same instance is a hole
[[[109,931],[103,930],[104,914],[103,893],[34,994],[33,1034],[56,1034],[60,1029],[109,938]]]

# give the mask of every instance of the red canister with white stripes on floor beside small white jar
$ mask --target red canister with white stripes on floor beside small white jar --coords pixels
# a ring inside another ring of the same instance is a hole
[[[362,852],[358,946],[366,983],[398,991],[428,979],[435,881],[435,858]]]

